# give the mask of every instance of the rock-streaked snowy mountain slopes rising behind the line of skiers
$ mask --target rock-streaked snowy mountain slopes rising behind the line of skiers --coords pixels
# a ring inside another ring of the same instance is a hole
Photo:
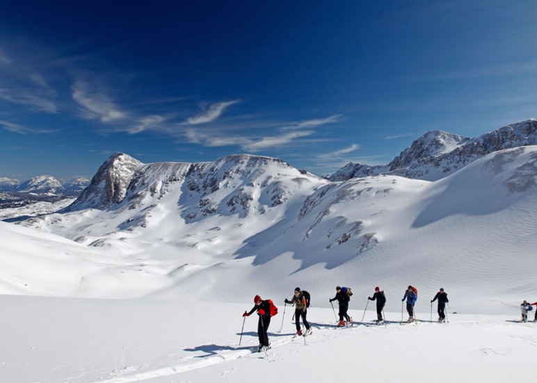
[[[327,182],[244,155],[139,165],[111,208],[25,224],[141,260],[158,297],[239,302],[305,286],[328,298],[336,284],[402,297],[412,284],[426,295],[449,286],[463,312],[498,312],[519,291],[537,294],[520,275],[537,262],[536,158],[536,146],[504,150],[437,182]]]

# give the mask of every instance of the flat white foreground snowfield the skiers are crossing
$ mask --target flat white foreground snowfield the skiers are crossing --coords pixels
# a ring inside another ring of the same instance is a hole
[[[358,321],[363,303],[351,300]],[[401,313],[387,312],[387,325],[376,326],[370,304],[367,325],[341,329],[331,308],[312,307],[313,334],[293,338],[293,311],[283,316],[282,304],[268,331],[273,347],[257,353],[255,315],[239,345],[249,302],[2,296],[0,304],[2,382],[507,382],[527,379],[537,350],[537,323],[515,322],[515,305],[506,315],[452,306],[446,324],[399,325]],[[418,300],[417,318],[428,321],[429,306]]]

